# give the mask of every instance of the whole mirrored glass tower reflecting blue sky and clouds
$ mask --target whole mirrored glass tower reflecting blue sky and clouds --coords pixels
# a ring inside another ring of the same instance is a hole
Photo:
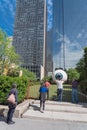
[[[53,0],[53,63],[74,68],[87,46],[87,0]]]

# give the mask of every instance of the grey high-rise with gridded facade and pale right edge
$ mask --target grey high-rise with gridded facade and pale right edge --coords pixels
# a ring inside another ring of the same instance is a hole
[[[21,66],[40,77],[45,68],[46,0],[17,0],[13,45]]]

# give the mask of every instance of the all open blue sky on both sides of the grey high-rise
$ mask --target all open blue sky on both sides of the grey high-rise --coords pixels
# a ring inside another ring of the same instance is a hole
[[[52,0],[47,0],[48,5],[48,30],[52,28]],[[13,36],[16,0],[0,0],[0,27]]]

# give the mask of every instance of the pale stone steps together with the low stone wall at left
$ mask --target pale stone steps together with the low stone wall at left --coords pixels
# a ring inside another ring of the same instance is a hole
[[[6,117],[8,107],[0,105],[0,111]],[[87,104],[46,101],[45,111],[41,113],[39,111],[39,100],[25,100],[17,106],[14,117],[87,123]]]

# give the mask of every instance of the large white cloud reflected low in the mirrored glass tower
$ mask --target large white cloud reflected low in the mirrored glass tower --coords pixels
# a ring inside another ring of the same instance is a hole
[[[80,45],[80,43],[76,40],[73,42],[70,40],[69,37],[66,35],[64,36],[64,41],[63,41],[63,36],[60,34],[58,31],[56,31],[58,34],[57,37],[57,42],[61,42],[61,49],[60,52],[57,55],[54,55],[53,60],[54,60],[54,68],[55,67],[63,67],[64,68],[64,52],[63,52],[63,44],[65,43],[65,67],[66,69],[68,68],[73,68],[76,66],[77,62],[79,59],[83,56],[83,50]]]

